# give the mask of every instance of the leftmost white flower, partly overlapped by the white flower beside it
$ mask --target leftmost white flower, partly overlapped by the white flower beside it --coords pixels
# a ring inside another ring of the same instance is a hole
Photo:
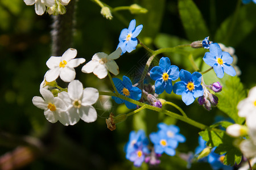
[[[40,89],[40,94],[43,98],[35,96],[32,103],[36,107],[44,109],[44,116],[49,122],[55,123],[59,120],[61,124],[67,126],[68,115],[65,113],[66,106],[63,100],[54,97],[51,91],[45,88]]]

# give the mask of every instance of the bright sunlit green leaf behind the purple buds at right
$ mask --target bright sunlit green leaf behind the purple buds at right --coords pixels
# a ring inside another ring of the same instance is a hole
[[[237,76],[231,77],[222,84],[222,92],[216,94],[218,97],[218,109],[228,114],[236,124],[242,124],[245,118],[238,116],[237,104],[246,97],[246,91]]]

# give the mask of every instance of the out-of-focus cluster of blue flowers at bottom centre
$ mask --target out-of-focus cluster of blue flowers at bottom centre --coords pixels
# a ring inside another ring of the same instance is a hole
[[[185,142],[186,138],[179,133],[180,129],[175,125],[158,124],[158,131],[150,134],[150,141],[154,147],[149,147],[148,139],[143,130],[137,133],[131,131],[129,141],[125,145],[126,159],[140,167],[143,162],[151,165],[160,163],[159,157],[166,153],[174,156],[179,142]]]

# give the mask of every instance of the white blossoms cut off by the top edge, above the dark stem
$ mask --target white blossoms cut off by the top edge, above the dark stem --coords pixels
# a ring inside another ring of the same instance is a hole
[[[64,5],[68,5],[70,0],[23,0],[26,5],[35,4],[35,12],[38,15],[43,15],[46,11],[48,14],[65,14]]]

